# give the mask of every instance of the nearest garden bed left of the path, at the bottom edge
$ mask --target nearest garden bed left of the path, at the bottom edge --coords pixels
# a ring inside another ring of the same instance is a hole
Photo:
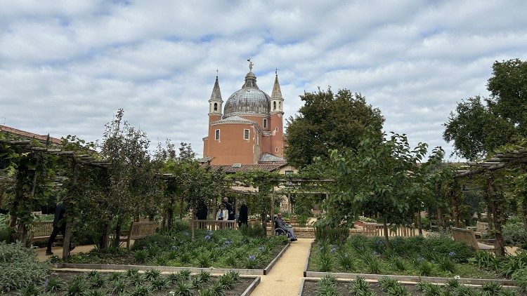
[[[161,274],[160,271],[137,269],[112,272],[56,271],[44,283],[30,284],[22,290],[3,295],[249,295],[258,285],[259,277],[241,277],[235,272],[211,276],[207,272],[190,274],[179,271]],[[174,292],[174,294],[171,294]],[[47,295],[47,294],[46,294]],[[201,295],[201,294],[200,294]]]

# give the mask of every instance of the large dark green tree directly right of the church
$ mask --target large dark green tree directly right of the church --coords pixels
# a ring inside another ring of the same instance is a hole
[[[342,89],[336,94],[330,88],[300,95],[304,106],[299,114],[287,120],[285,156],[293,166],[303,168],[313,157],[329,158],[330,149],[356,147],[367,126],[381,137],[384,117],[366,103],[360,93]]]

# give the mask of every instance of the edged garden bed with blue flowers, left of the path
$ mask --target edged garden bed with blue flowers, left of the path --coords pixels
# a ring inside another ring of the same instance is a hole
[[[60,267],[84,269],[158,269],[193,272],[266,274],[289,247],[284,236],[247,237],[233,229],[157,234],[124,248],[91,250],[70,256]]]

